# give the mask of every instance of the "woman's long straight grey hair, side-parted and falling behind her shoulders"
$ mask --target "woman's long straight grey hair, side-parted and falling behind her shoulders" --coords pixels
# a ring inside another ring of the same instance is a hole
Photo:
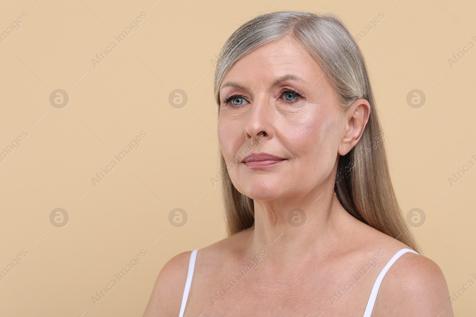
[[[357,99],[370,104],[362,137],[341,155],[334,191],[352,216],[416,250],[419,246],[405,222],[388,170],[383,132],[367,75],[365,60],[344,24],[331,14],[278,11],[259,15],[240,26],[221,49],[216,64],[214,94],[220,111],[219,88],[228,70],[253,49],[289,37],[317,61],[333,87],[341,109]],[[254,203],[238,192],[220,151],[222,190],[228,235],[254,225]]]

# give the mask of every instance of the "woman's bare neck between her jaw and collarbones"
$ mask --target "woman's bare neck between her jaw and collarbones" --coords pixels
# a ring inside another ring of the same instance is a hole
[[[248,250],[253,254],[265,250],[267,262],[277,265],[289,258],[316,259],[318,253],[327,252],[327,241],[341,224],[337,219],[347,213],[334,192],[334,182],[298,198],[255,200],[254,209]]]

